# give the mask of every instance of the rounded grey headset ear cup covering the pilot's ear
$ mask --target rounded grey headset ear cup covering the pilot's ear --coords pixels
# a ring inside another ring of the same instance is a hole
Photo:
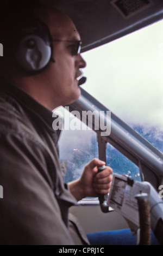
[[[25,15],[14,22],[10,31],[12,57],[26,74],[37,74],[47,67],[52,58],[52,36],[47,25]]]

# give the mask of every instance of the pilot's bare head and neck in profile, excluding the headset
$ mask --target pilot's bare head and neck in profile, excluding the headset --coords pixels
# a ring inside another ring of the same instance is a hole
[[[70,104],[80,96],[77,78],[81,75],[80,69],[86,65],[80,53],[77,53],[80,35],[70,18],[56,9],[36,5],[33,12],[35,18],[45,22],[49,28],[53,44],[52,59],[55,62],[50,61],[38,74],[26,75],[8,56],[9,80],[47,108],[54,109]]]

